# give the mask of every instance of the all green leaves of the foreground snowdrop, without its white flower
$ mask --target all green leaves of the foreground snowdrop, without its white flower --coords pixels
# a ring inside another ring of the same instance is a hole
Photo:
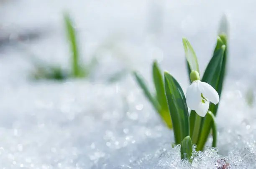
[[[225,28],[223,28],[223,25],[225,26]],[[210,84],[218,92],[219,96],[221,96],[223,88],[226,62],[228,57],[226,25],[226,20],[224,20],[224,22],[222,20],[220,29],[221,32],[217,37],[215,50],[213,52],[210,62],[205,69],[205,73],[201,78],[201,81]],[[187,59],[189,77],[192,70],[200,72],[199,65],[197,62],[197,56],[195,54],[195,51],[193,50],[192,46],[186,38],[183,38],[183,46]],[[156,62],[154,62],[154,65],[157,65]],[[154,67],[156,66],[153,66],[153,70]],[[141,86],[145,95],[160,115],[160,110],[163,109],[162,107],[166,106],[165,103],[167,99],[167,105],[172,120],[175,144],[181,144],[182,159],[188,158],[192,160],[191,157],[193,144],[197,146],[197,151],[203,150],[211,130],[213,138],[212,147],[216,147],[217,125],[215,122],[215,116],[217,114],[218,104],[215,105],[211,103],[205,117],[200,117],[198,114],[196,114],[195,111],[191,111],[189,114],[184,92],[182,91],[182,88],[180,87],[177,80],[168,72],[164,72],[163,89],[162,79],[156,78],[161,77],[161,73],[158,72],[157,76],[155,76],[156,72],[153,71],[154,83],[157,93],[156,97],[153,97],[148,91],[145,82],[141,79],[140,76],[138,76],[137,73],[135,73],[138,84]],[[165,97],[163,91],[165,93]],[[158,97],[158,95],[160,95],[159,93],[161,94],[161,98]]]

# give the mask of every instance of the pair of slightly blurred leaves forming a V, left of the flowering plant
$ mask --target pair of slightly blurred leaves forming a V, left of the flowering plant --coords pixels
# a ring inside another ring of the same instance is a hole
[[[135,76],[138,85],[143,90],[149,102],[151,102],[152,106],[154,107],[156,112],[158,112],[158,114],[163,119],[167,127],[172,129],[172,120],[165,96],[164,79],[159,68],[159,65],[157,64],[156,61],[154,61],[152,66],[152,74],[156,94],[151,94],[150,90],[148,89],[148,85],[146,84],[146,81],[143,79],[143,77],[140,74],[138,74],[138,72],[133,72],[133,75]]]

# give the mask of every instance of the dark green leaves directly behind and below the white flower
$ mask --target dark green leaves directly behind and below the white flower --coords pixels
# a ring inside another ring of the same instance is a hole
[[[208,63],[205,73],[201,78],[201,81],[210,84],[218,92],[220,97],[225,77],[227,52],[227,36],[225,34],[219,35],[212,59]],[[191,67],[188,66],[188,70],[190,73]],[[210,103],[209,112],[205,117],[200,117],[195,111],[191,111],[189,117],[190,132],[193,143],[197,145],[197,150],[204,148],[211,129],[213,136],[212,147],[216,147],[217,132],[214,119],[217,110],[218,104]]]

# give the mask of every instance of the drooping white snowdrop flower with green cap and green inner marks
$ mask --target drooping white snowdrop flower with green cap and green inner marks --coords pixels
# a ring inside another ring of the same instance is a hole
[[[187,88],[187,106],[201,117],[205,117],[209,109],[209,104],[218,104],[220,97],[218,92],[208,83],[201,82],[199,73],[192,70],[190,73],[192,84]]]

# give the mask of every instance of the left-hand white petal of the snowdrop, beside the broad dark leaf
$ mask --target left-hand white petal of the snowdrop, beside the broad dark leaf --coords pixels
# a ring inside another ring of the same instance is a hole
[[[186,101],[187,107],[192,110],[195,110],[198,107],[198,104],[201,102],[201,92],[198,88],[199,80],[195,80],[191,85],[187,88],[186,92]]]

